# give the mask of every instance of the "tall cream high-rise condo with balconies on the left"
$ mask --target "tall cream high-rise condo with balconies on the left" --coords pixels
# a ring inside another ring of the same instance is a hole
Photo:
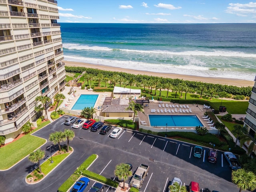
[[[36,96],[64,90],[60,24],[55,0],[0,0],[0,136],[6,143],[40,114]]]

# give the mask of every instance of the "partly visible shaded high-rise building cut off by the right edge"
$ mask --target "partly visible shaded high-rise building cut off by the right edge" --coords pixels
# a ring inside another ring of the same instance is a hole
[[[252,88],[252,94],[249,100],[249,106],[246,111],[246,117],[244,119],[244,125],[248,126],[249,135],[254,138],[256,134],[256,77],[254,80],[254,86]],[[245,144],[248,146],[249,141]],[[254,145],[254,152],[256,152],[256,145]]]

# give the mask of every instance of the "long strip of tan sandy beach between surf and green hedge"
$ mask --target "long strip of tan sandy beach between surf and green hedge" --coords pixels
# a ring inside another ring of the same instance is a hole
[[[230,79],[230,78],[214,78],[214,77],[200,77],[200,76],[193,76],[193,75],[181,75],[181,74],[173,74],[173,73],[158,73],[158,72],[150,72],[146,70],[132,70],[126,68],[118,68],[118,67],[111,67],[105,66],[100,64],[88,64],[88,63],[81,63],[81,62],[71,62],[71,61],[64,61],[66,66],[76,66],[76,67],[86,67],[86,68],[94,68],[106,71],[116,71],[116,72],[126,72],[130,74],[141,74],[141,75],[148,75],[148,76],[158,76],[164,78],[178,78],[183,80],[190,80],[190,81],[200,81],[200,82],[207,82],[207,83],[214,83],[214,84],[224,84],[224,85],[234,85],[234,86],[253,86],[254,81],[247,81],[241,79]]]

